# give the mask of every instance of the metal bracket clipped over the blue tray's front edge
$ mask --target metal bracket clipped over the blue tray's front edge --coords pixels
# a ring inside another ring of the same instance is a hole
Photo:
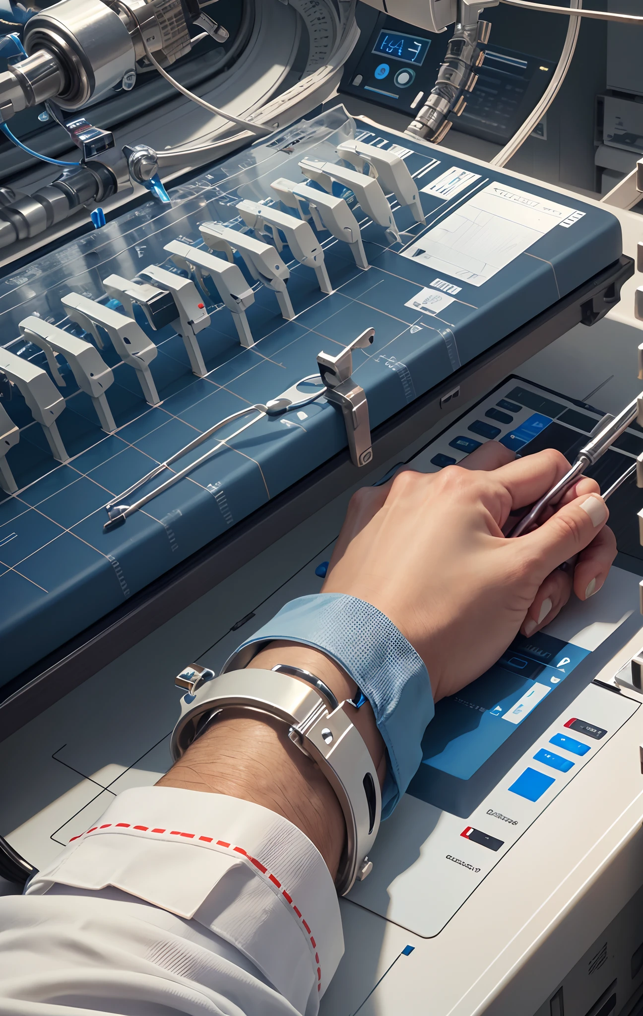
[[[319,373],[326,386],[326,400],[338,405],[343,414],[350,458],[358,466],[367,465],[371,461],[373,448],[366,392],[350,376],[352,351],[366,348],[374,338],[375,328],[367,328],[336,357],[323,351],[317,356]]]

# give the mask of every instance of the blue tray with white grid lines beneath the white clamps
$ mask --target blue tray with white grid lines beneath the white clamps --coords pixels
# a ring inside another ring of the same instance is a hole
[[[199,432],[279,395],[316,371],[321,350],[335,355],[370,326],[375,341],[353,354],[353,377],[375,428],[621,256],[620,225],[608,211],[356,123],[337,107],[175,188],[171,206],[149,201],[5,277],[4,344],[47,369],[44,354],[15,337],[24,317],[36,314],[88,338],[65,317],[62,297],[73,291],[119,309],[105,294],[107,275],[135,278],[149,264],[178,271],[164,251],[170,240],[200,244],[198,224],[207,220],[242,229],[241,198],[274,199],[273,180],[302,180],[298,163],[307,155],[337,162],[337,145],[351,138],[405,145],[427,217],[427,226],[416,224],[389,195],[402,239],[391,245],[345,194],[362,226],[368,270],[356,266],[346,244],[320,234],[333,285],[324,296],[313,270],[288,260],[284,249],[295,320],[284,321],[275,295],[257,283],[248,311],[255,345],[242,350],[230,312],[210,300],[212,324],[198,336],[209,371],[203,379],[191,373],[180,336],[170,328],[148,331],[158,346],[150,370],[162,403],[153,408],[135,372],[106,344],[102,355],[115,371],[107,393],[118,428],[112,435],[100,430],[88,396],[61,364],[65,464],[52,458],[17,390],[0,383],[2,404],[20,428],[7,455],[19,490],[0,501],[0,684],[346,447],[341,412],[324,399],[264,418],[121,528],[104,533],[105,505]]]

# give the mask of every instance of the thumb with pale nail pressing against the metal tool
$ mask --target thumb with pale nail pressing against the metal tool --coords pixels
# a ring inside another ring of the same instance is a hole
[[[580,497],[565,505],[534,529],[519,536],[541,579],[583,551],[600,532],[609,517],[607,505],[598,494]]]

